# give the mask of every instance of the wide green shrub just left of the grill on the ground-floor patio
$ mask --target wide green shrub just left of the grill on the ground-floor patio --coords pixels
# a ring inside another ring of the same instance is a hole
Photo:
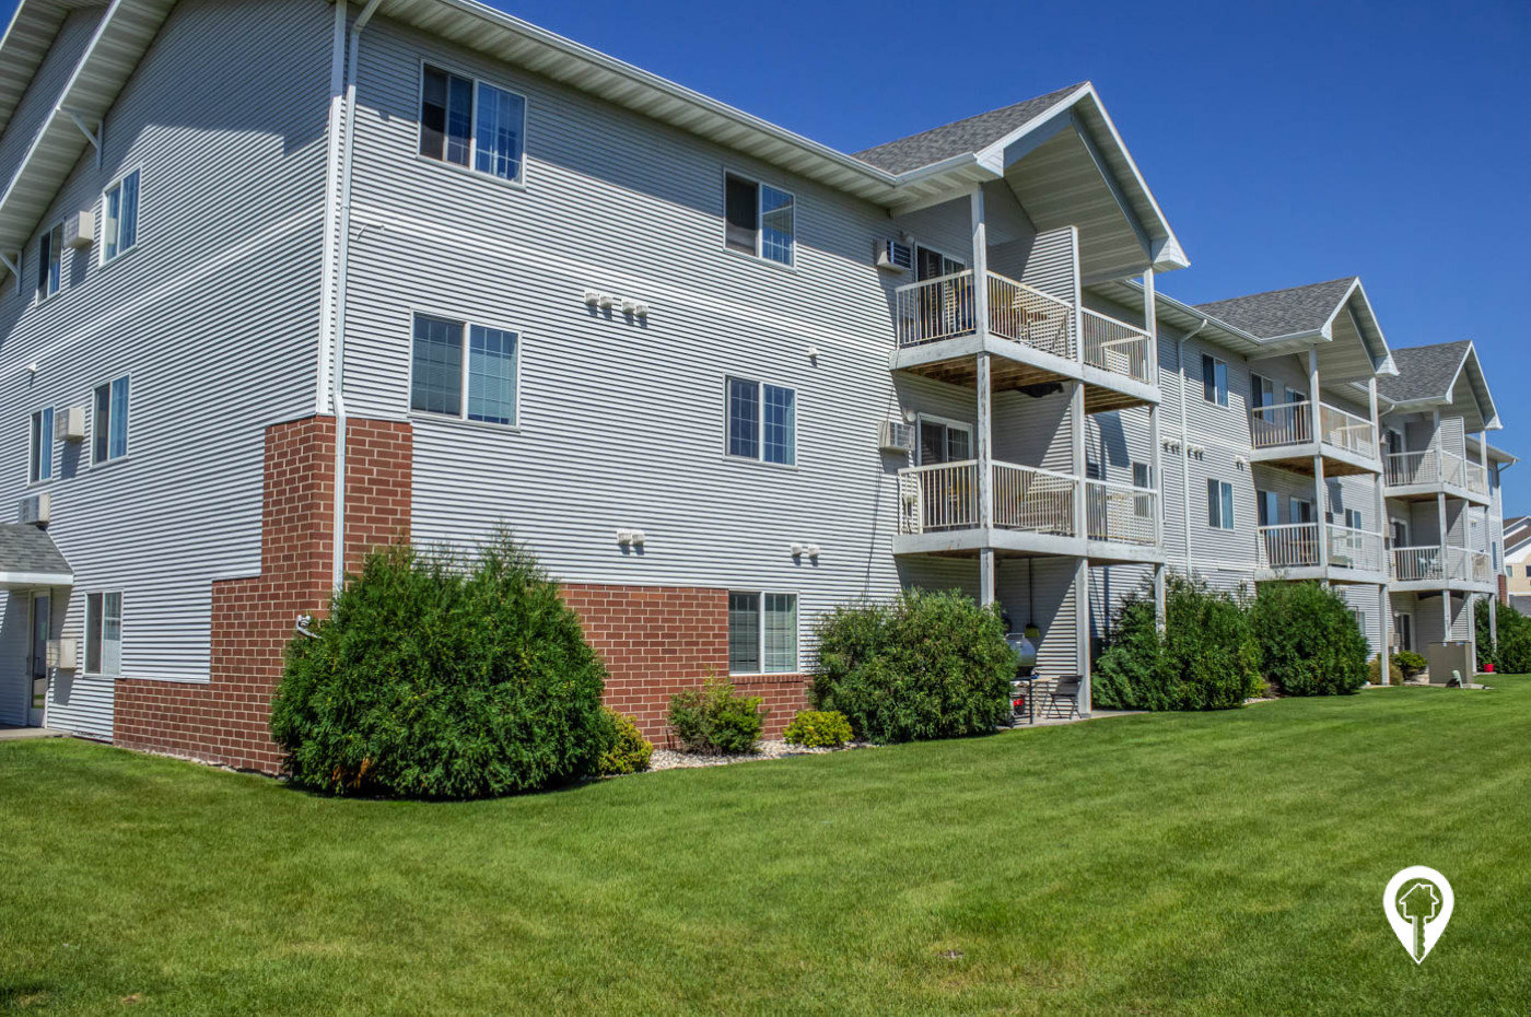
[[[958,591],[906,590],[818,623],[813,701],[877,743],[992,732],[1009,717],[1015,654],[997,607]]]

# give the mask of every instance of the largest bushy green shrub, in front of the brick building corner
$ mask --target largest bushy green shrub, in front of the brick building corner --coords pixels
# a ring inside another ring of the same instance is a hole
[[[484,798],[588,775],[611,744],[600,659],[504,533],[470,561],[369,554],[311,631],[288,645],[271,705],[299,784]]]

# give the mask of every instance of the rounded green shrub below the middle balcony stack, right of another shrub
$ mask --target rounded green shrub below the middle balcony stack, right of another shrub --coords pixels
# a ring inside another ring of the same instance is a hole
[[[1366,685],[1366,636],[1350,607],[1317,582],[1268,582],[1251,625],[1260,671],[1286,695],[1349,695]]]

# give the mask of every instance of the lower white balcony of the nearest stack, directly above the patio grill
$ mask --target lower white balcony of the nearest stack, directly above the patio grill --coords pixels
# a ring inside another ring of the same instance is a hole
[[[994,512],[987,530],[978,504],[977,461],[899,470],[894,553],[971,554],[992,547],[1014,554],[1162,559],[1159,492],[1010,463],[992,463],[991,469]]]

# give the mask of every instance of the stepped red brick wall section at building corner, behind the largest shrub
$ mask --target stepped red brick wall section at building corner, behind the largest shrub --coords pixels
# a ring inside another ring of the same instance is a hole
[[[407,536],[409,424],[346,427],[346,565]],[[277,772],[271,694],[299,614],[325,610],[331,588],[335,421],[311,417],[266,429],[260,576],[213,584],[211,675],[205,685],[116,683],[113,741],[211,763]]]

